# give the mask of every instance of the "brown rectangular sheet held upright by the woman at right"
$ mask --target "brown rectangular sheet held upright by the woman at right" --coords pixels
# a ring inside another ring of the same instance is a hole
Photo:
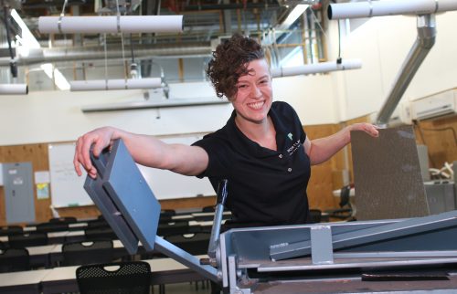
[[[351,132],[357,220],[429,215],[411,126]]]

